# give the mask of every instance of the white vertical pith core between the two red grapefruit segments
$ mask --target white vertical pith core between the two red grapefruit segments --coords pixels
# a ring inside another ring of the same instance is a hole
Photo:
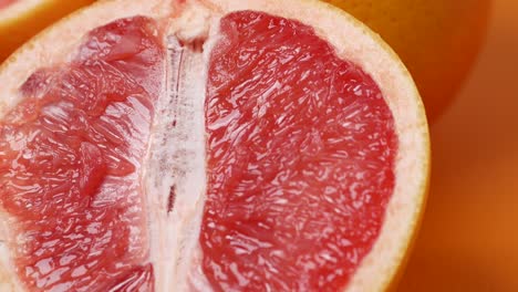
[[[200,268],[205,95],[218,23],[201,6],[184,7],[168,23],[165,88],[156,103],[144,175],[156,291],[189,291],[193,282],[206,281],[193,270]]]

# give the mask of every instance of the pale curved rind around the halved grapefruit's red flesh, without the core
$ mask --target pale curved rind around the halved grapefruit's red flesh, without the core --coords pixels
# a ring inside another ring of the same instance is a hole
[[[394,115],[400,139],[395,169],[396,186],[380,237],[371,253],[359,267],[346,291],[387,289],[408,254],[423,212],[429,176],[426,116],[408,71],[377,34],[348,13],[317,0],[199,2],[219,14],[257,10],[296,19],[313,27],[320,38],[336,49],[339,56],[360,65],[379,84]],[[132,6],[127,6],[124,0],[100,1],[45,30],[0,66],[0,83],[4,84],[0,100],[0,117],[20,101],[18,88],[34,69],[70,61],[70,52],[74,51],[81,38],[89,31],[113,20],[136,14],[166,19],[173,12],[172,8],[170,1],[139,1]],[[60,40],[59,50],[55,40]],[[2,260],[4,259],[3,257]],[[0,267],[0,280],[14,279],[3,277],[12,275],[12,269],[8,267],[8,262]],[[7,282],[2,284],[9,285]],[[14,288],[14,283],[12,284]]]

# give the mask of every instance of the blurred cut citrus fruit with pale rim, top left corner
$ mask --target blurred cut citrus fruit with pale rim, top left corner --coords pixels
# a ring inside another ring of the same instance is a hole
[[[94,0],[0,0],[0,62],[39,31]]]

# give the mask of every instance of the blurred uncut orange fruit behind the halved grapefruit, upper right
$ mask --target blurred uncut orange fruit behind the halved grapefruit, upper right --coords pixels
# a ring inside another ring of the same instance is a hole
[[[324,0],[340,7],[394,49],[436,119],[459,90],[485,34],[490,0]]]

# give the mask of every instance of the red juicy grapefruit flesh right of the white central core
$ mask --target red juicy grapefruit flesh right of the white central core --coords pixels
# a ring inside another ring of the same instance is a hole
[[[336,291],[394,191],[391,112],[307,25],[236,12],[221,31],[206,103],[204,271],[218,291]]]

